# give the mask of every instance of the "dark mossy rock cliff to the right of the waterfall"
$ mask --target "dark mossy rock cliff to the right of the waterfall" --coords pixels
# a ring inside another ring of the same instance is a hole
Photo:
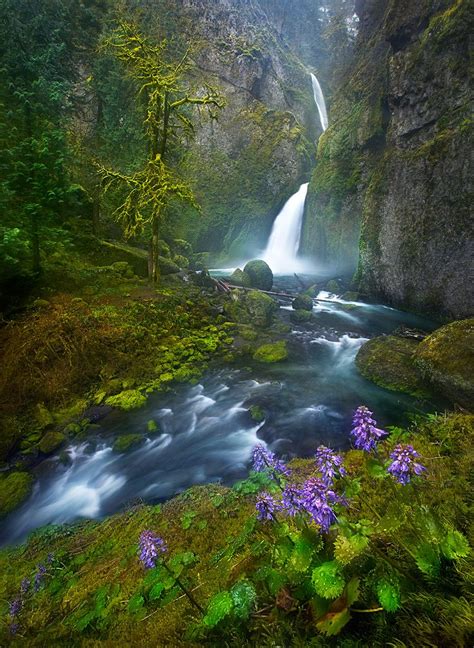
[[[304,247],[404,308],[472,313],[466,0],[359,0],[357,52],[321,138]]]

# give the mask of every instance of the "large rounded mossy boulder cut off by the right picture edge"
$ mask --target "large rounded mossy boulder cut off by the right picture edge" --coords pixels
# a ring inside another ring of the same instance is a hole
[[[442,326],[420,342],[415,364],[433,387],[474,410],[474,319]]]

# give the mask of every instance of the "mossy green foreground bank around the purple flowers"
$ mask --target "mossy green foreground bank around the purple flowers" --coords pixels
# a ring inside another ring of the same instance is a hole
[[[469,435],[472,416],[432,416],[420,419],[410,431],[428,467],[419,486],[421,501],[472,537],[468,475],[472,463]],[[397,442],[407,436],[394,430]],[[408,438],[408,437],[407,437]],[[394,441],[395,442],[395,441]],[[363,497],[357,493],[348,509],[354,519],[369,518],[374,507],[386,501],[385,482],[363,472],[360,451],[346,453],[346,466],[359,475]],[[370,463],[367,464],[370,466]],[[312,460],[291,462],[293,477],[302,481],[314,470]],[[456,476],[456,479],[453,479]],[[469,558],[457,572],[443,566],[443,591],[430,579],[417,576],[411,592],[397,613],[354,615],[343,633],[324,638],[311,623],[311,614],[296,613],[282,605],[283,593],[269,592],[259,580],[259,547],[269,547],[271,533],[255,523],[254,497],[263,487],[252,479],[233,489],[219,485],[194,487],[163,506],[135,506],[102,522],[84,521],[63,527],[45,527],[32,534],[27,544],[0,551],[0,641],[3,645],[156,645],[156,646],[467,646],[469,619],[467,602]],[[411,492],[411,491],[410,491]],[[408,495],[407,495],[408,497]],[[384,524],[401,524],[409,515],[409,502],[398,517]],[[400,517],[402,516],[402,517]],[[398,520],[398,521],[397,521]],[[383,526],[383,525],[382,525]],[[154,574],[145,572],[137,557],[138,538],[144,529],[163,536],[169,547],[168,560],[186,558],[182,581],[205,608],[216,592],[229,589],[246,578],[259,595],[258,612],[245,628],[210,635],[196,634],[201,620],[185,596],[176,589],[152,594]],[[379,541],[384,542],[383,529]],[[266,550],[265,550],[266,551]],[[340,549],[342,551],[342,549]],[[8,601],[18,592],[22,578],[31,578],[40,563],[52,553],[54,561],[39,592],[31,595],[20,614],[16,638],[8,634]],[[185,555],[186,554],[186,555]],[[390,560],[403,561],[393,548]],[[452,591],[447,583],[452,578]],[[449,589],[449,588],[448,588]],[[291,600],[291,590],[285,590]],[[450,613],[451,611],[451,613]],[[450,614],[458,614],[455,624]],[[413,623],[413,619],[417,623]],[[194,628],[194,630],[193,630]],[[398,643],[397,643],[398,642]],[[423,643],[424,642],[424,643]],[[453,643],[454,642],[454,643]],[[401,645],[401,644],[400,644]]]

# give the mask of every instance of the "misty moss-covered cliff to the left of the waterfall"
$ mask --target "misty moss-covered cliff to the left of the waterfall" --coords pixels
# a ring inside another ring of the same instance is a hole
[[[219,87],[226,106],[203,119],[182,166],[202,207],[182,205],[169,219],[197,249],[238,258],[266,243],[284,201],[307,179],[318,134],[309,70],[259,2],[141,2],[150,21],[199,41],[202,82]],[[298,20],[304,21],[304,12]]]

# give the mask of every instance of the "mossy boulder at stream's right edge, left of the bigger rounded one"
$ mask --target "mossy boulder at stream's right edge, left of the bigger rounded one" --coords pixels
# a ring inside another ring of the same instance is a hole
[[[375,337],[361,346],[356,357],[359,372],[379,387],[417,397],[429,396],[429,389],[414,365],[419,342],[395,335]]]

